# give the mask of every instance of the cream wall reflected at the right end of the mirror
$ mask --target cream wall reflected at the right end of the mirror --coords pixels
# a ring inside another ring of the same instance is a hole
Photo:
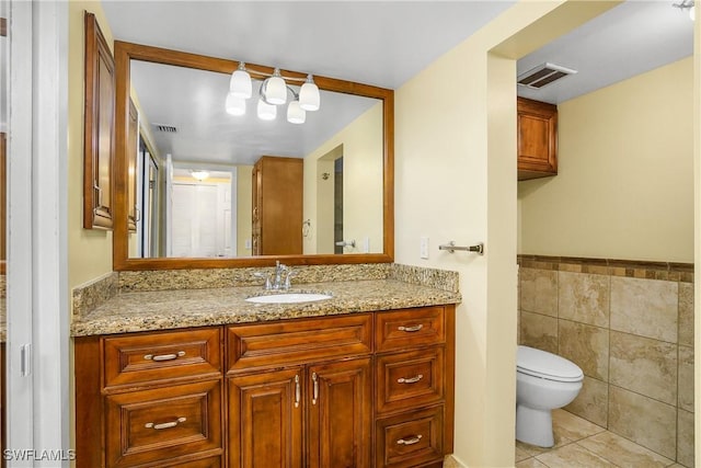
[[[344,238],[356,241],[356,248],[345,252],[363,252],[365,238],[369,239],[371,252],[382,251],[382,105],[377,104],[304,158],[303,218],[311,220],[310,236],[303,239],[304,253],[333,252],[322,252],[317,244],[333,228],[326,222],[324,231],[319,222],[318,184],[324,170],[318,162],[340,146],[344,163]],[[325,182],[331,185],[333,179]]]

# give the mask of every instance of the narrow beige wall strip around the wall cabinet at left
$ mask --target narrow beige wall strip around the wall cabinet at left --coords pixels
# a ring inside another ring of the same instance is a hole
[[[68,57],[68,286],[70,288],[112,271],[112,232],[82,228],[83,204],[83,11],[97,18],[107,44],[112,31],[102,5],[73,1],[69,5]]]

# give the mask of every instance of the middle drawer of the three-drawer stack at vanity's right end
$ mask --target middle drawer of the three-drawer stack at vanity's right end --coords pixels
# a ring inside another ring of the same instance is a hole
[[[443,346],[377,358],[377,411],[438,403],[444,398]]]

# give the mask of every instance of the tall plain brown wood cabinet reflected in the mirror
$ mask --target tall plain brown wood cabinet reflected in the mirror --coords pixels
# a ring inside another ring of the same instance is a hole
[[[303,160],[264,156],[253,165],[252,254],[302,253]]]

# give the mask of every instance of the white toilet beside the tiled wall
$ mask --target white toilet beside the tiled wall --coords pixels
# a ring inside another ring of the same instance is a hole
[[[518,346],[516,440],[539,447],[555,445],[552,410],[572,402],[583,379],[584,373],[573,362],[547,351]]]

